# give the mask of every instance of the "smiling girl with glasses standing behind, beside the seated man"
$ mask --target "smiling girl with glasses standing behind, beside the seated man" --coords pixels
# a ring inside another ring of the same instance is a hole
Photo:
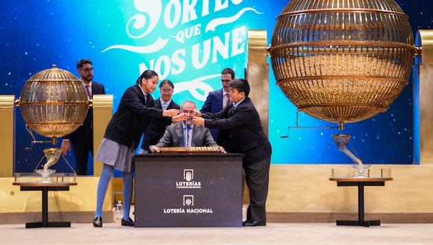
[[[180,109],[180,106],[171,99],[175,85],[170,80],[164,80],[159,83],[159,94],[161,97],[155,100],[155,108],[157,109]],[[159,120],[158,118],[152,118],[143,132],[142,147],[140,154],[148,153],[151,145],[156,145],[159,139],[164,135],[166,127],[170,125],[170,122]]]

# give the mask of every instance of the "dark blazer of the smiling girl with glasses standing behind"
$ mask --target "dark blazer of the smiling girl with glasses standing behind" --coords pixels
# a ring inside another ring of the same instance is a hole
[[[159,98],[155,100],[155,107],[162,109],[161,100]],[[180,109],[180,106],[171,100],[167,109]],[[142,149],[148,151],[151,145],[156,145],[159,139],[164,135],[166,127],[170,124],[171,122],[167,122],[166,120],[152,118],[143,132]]]

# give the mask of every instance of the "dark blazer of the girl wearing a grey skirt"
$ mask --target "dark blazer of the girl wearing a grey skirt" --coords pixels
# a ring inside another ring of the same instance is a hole
[[[171,117],[163,117],[162,109],[154,106],[155,102],[151,94],[147,95],[145,103],[140,85],[129,87],[122,95],[118,110],[107,125],[104,137],[137,149],[144,127],[150,118],[161,118],[171,122]]]

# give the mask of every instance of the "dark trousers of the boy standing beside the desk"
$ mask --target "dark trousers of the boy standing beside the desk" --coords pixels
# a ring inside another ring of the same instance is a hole
[[[266,222],[266,199],[269,189],[270,164],[270,157],[260,162],[243,164],[245,182],[249,188],[247,220]]]

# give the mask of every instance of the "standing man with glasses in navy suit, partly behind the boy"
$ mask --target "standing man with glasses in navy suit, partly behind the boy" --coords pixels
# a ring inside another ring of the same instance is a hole
[[[208,98],[201,107],[200,112],[215,113],[221,111],[226,105],[231,103],[229,85],[234,79],[234,71],[232,68],[224,68],[221,72],[221,89],[212,91],[209,93]],[[225,148],[227,152],[230,152],[232,141],[230,140],[230,131],[223,129],[211,129],[210,133],[218,145]]]

